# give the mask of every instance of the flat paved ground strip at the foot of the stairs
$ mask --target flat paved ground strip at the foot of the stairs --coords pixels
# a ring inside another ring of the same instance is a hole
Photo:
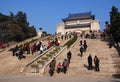
[[[47,76],[0,76],[0,82],[120,82],[119,79]]]

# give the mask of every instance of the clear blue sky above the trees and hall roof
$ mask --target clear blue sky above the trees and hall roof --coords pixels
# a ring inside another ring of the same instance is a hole
[[[111,7],[120,10],[120,0],[0,0],[0,12],[9,15],[23,11],[27,14],[30,25],[36,30],[42,28],[47,33],[55,33],[58,23],[68,14],[91,11],[100,20],[101,30],[105,21],[109,21]]]

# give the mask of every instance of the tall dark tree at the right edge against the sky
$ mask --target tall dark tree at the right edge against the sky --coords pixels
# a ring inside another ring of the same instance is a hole
[[[115,6],[113,6],[110,11],[110,23],[110,33],[116,42],[120,42],[120,12]]]

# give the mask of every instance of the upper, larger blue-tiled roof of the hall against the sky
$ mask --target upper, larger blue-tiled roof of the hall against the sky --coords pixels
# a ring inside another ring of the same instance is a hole
[[[88,19],[88,18],[94,19],[94,15],[92,15],[91,12],[69,14],[69,16],[67,18],[64,18],[63,21],[78,20],[78,19]]]

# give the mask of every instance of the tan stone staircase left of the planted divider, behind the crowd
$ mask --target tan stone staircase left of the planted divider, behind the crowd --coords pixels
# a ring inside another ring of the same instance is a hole
[[[49,37],[49,36],[48,36]],[[42,40],[43,44],[48,44],[48,37],[45,37]],[[33,38],[30,39],[30,41]],[[61,46],[66,42],[67,40],[61,40]],[[25,42],[28,42],[25,41]],[[18,45],[23,44],[25,42],[18,43]],[[19,75],[23,67],[28,63],[29,61],[33,60],[36,58],[38,55],[40,55],[40,52],[34,53],[34,55],[29,54],[27,55],[26,53],[24,54],[26,56],[25,59],[19,60],[16,56],[12,55],[11,51],[8,51],[10,48],[15,47],[14,45],[11,45],[9,48],[7,48],[5,51],[0,53],[0,75]],[[9,68],[10,67],[10,68]],[[9,69],[8,69],[9,68]]]

